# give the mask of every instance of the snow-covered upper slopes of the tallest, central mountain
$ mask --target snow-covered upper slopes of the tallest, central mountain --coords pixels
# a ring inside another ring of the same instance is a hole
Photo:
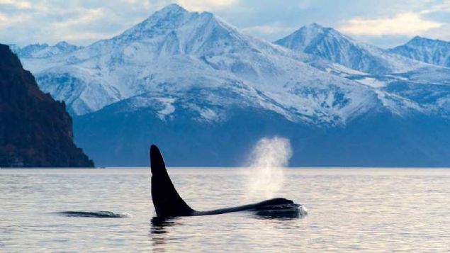
[[[381,104],[372,87],[323,71],[352,70],[327,61],[306,63],[314,58],[244,35],[212,13],[171,4],[114,38],[23,62],[41,89],[66,101],[76,115],[141,94],[170,99],[201,89],[215,89],[223,106],[235,101],[226,95],[237,92],[246,96],[235,103],[332,125]],[[217,113],[215,108],[203,108],[208,113],[201,117]],[[178,109],[167,108],[164,117]]]

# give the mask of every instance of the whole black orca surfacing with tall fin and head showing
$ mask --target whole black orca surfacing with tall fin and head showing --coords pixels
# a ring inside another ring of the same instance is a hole
[[[152,171],[152,201],[157,218],[171,218],[177,216],[218,215],[240,211],[254,211],[259,215],[274,217],[297,218],[305,215],[306,210],[302,205],[296,204],[286,198],[272,198],[259,203],[244,206],[222,208],[217,210],[198,211],[193,210],[176,191],[166,164],[156,145],[150,147],[150,167]]]

